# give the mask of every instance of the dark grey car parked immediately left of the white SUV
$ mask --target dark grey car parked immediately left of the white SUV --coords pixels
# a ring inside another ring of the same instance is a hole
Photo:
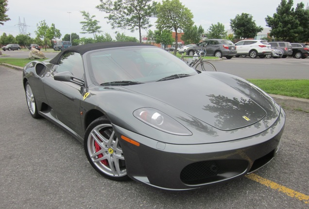
[[[187,55],[193,56],[195,52],[206,47],[206,56],[231,59],[237,55],[236,46],[230,40],[207,39],[187,49]]]

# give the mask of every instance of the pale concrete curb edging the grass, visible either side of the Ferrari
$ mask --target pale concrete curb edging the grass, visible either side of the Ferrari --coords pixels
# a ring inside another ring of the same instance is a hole
[[[0,63],[1,65],[20,70],[22,71],[23,68],[7,63]],[[282,96],[282,95],[276,95],[276,94],[270,94],[271,97],[274,98],[276,103],[280,104],[283,108],[288,109],[297,109],[309,112],[309,99],[302,99],[302,98],[296,98],[296,97],[288,97],[288,96]]]

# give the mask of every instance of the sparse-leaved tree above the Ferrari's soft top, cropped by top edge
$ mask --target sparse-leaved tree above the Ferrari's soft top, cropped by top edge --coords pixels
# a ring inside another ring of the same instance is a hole
[[[153,0],[100,0],[96,8],[107,14],[105,18],[112,29],[128,29],[131,32],[138,30],[141,43],[141,30],[148,29],[150,17],[154,17],[156,2]]]

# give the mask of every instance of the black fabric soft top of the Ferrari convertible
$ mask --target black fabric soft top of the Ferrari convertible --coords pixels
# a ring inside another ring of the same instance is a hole
[[[115,48],[115,47],[123,47],[123,46],[154,46],[149,44],[142,44],[136,42],[100,42],[95,44],[86,44],[86,45],[78,45],[66,48],[57,54],[53,59],[50,60],[51,64],[58,64],[62,55],[66,52],[77,52],[81,55],[85,54],[88,51],[104,49],[104,48]]]

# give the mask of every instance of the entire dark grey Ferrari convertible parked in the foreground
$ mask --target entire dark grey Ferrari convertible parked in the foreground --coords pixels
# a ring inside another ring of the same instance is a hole
[[[245,79],[142,43],[72,46],[29,62],[22,83],[31,116],[81,141],[101,175],[160,189],[257,170],[275,157],[285,124],[283,109]]]

